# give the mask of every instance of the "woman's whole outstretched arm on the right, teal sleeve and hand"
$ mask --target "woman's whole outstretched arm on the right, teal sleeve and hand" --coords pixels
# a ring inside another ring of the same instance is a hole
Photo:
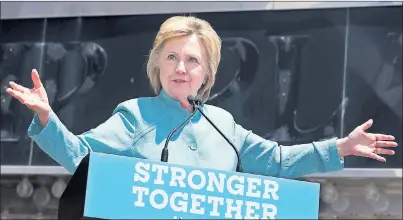
[[[372,121],[357,127],[348,137],[333,138],[308,144],[280,146],[235,124],[235,137],[241,143],[243,171],[281,178],[298,178],[313,173],[344,168],[344,156],[366,156],[380,161],[375,154],[394,154],[381,146],[397,146],[390,135],[369,134],[365,130]]]

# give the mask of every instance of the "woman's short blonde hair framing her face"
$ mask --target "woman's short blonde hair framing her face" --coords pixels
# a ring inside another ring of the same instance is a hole
[[[158,94],[162,85],[160,82],[160,58],[164,43],[173,37],[196,35],[206,51],[207,78],[198,91],[198,95],[206,101],[215,83],[215,76],[221,60],[221,39],[211,25],[200,18],[192,16],[174,16],[167,19],[160,27],[154,40],[153,48],[147,62],[147,76],[155,94]]]

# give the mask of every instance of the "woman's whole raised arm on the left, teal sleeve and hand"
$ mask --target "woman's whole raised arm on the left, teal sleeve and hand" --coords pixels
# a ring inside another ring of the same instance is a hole
[[[38,71],[32,70],[31,78],[34,84],[32,89],[10,82],[11,88],[7,88],[7,92],[35,112],[28,136],[60,165],[74,172],[89,151],[129,154],[136,125],[125,103],[118,105],[106,122],[76,136],[51,109]]]

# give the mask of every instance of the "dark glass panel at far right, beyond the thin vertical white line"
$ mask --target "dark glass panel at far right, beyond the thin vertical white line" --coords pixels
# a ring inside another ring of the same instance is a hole
[[[374,133],[392,134],[399,146],[387,163],[351,157],[350,167],[402,167],[402,8],[351,9],[344,135],[369,118]]]

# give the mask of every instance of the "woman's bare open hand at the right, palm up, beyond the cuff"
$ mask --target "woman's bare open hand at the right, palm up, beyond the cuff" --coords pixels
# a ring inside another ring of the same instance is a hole
[[[355,128],[347,137],[337,140],[339,156],[355,155],[369,157],[381,162],[386,159],[380,155],[394,155],[395,152],[384,147],[396,147],[395,137],[385,134],[372,134],[365,131],[372,126],[372,119]]]

